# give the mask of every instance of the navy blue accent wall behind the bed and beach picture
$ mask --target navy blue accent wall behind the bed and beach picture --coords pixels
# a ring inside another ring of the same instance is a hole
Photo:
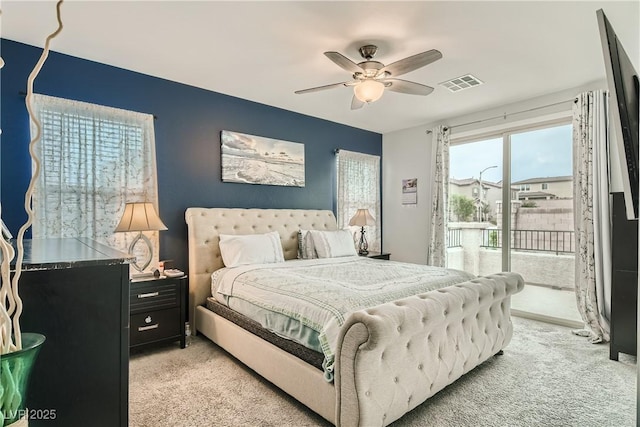
[[[0,51],[6,62],[0,71],[0,195],[2,218],[15,235],[26,220],[24,192],[31,176],[24,92],[42,50],[1,39]],[[382,154],[378,133],[55,52],[49,55],[34,88],[45,95],[156,116],[159,213],[168,227],[160,232],[160,256],[175,260],[182,269],[188,267],[186,208],[335,212],[334,150]],[[314,102],[312,97],[307,101]],[[303,143],[305,187],[222,182],[222,130]]]

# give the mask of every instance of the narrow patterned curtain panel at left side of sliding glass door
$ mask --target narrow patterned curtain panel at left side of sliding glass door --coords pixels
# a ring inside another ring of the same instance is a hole
[[[449,213],[449,128],[438,126],[431,131],[434,140],[433,181],[431,186],[431,242],[427,264],[447,266],[447,222]]]

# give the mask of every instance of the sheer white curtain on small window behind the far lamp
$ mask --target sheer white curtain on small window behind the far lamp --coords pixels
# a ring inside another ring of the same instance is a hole
[[[376,225],[366,226],[369,251],[380,252],[380,156],[340,150],[338,165],[338,228],[349,227],[358,209],[369,209]],[[351,227],[360,238],[360,227]]]

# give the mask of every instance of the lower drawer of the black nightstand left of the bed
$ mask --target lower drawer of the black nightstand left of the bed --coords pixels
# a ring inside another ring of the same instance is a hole
[[[131,316],[129,345],[147,344],[180,336],[180,308],[156,310]]]

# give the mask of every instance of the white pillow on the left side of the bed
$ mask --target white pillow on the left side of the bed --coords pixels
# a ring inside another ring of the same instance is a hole
[[[277,231],[266,234],[221,234],[220,254],[227,267],[284,262]]]

